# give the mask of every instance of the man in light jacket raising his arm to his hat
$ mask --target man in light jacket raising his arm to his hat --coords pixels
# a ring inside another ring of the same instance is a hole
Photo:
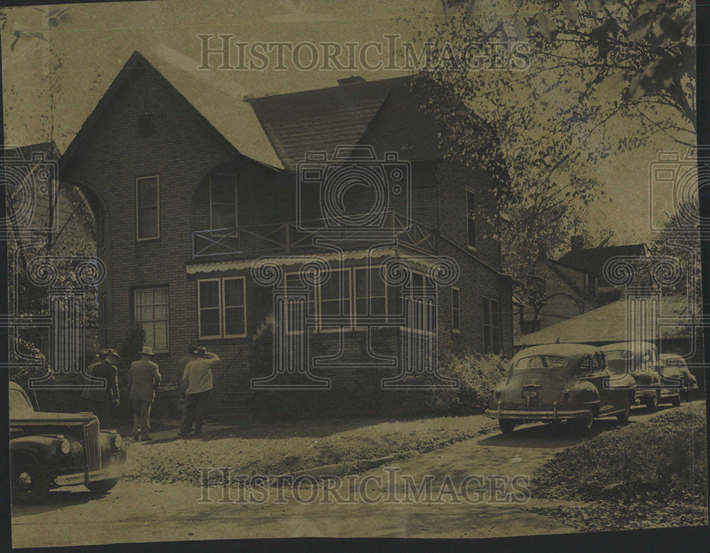
[[[207,412],[209,390],[212,390],[212,365],[220,361],[204,346],[195,350],[195,359],[187,363],[182,380],[185,381],[185,407],[182,409],[180,436],[187,436],[195,423],[195,434],[202,433],[202,421]]]

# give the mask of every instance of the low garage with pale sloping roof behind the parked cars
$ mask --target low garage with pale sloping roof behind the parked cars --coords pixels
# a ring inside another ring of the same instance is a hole
[[[515,349],[541,344],[592,344],[619,341],[654,342],[660,354],[679,354],[704,385],[702,327],[689,316],[693,307],[680,296],[634,297],[611,302],[515,341]]]

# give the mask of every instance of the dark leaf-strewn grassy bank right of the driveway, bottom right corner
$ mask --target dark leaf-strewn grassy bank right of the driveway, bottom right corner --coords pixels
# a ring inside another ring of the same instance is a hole
[[[535,474],[546,498],[595,500],[620,483],[627,498],[707,500],[705,411],[675,409],[561,451]]]

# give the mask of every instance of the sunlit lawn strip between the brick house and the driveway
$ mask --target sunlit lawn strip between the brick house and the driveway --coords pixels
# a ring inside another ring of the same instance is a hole
[[[484,417],[272,420],[129,449],[129,478],[200,484],[198,467],[233,468],[239,476],[277,476],[312,467],[422,451],[495,427]]]

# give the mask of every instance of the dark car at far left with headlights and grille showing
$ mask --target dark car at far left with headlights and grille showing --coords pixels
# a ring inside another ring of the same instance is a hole
[[[106,493],[121,479],[126,446],[89,412],[35,410],[25,390],[9,386],[11,498],[34,502],[50,488],[84,485]]]

